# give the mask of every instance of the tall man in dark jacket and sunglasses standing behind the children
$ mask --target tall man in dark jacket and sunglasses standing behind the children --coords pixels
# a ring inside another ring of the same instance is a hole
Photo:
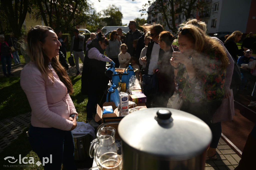
[[[135,50],[135,48],[132,46],[133,40],[140,38],[142,33],[136,29],[135,21],[130,21],[128,27],[130,31],[127,32],[124,43],[127,45],[127,53],[132,55],[133,51]]]

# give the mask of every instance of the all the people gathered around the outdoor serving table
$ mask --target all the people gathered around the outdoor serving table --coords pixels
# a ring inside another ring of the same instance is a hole
[[[131,64],[138,69],[135,76],[143,83],[146,106],[167,107],[169,98],[176,91],[183,100],[180,110],[209,125],[212,142],[206,160],[217,159],[220,122],[232,120],[234,115],[233,90],[237,86],[232,81],[239,80],[240,74],[238,88],[243,90],[256,75],[246,71],[240,73],[239,69],[241,64],[256,69],[256,60],[251,56],[253,33],[238,49],[236,43],[241,40],[240,31],[227,36],[223,44],[218,38],[206,34],[206,23],[190,19],[178,29],[177,47],[172,45],[176,37],[164,31],[161,24],[141,26],[144,33],[136,29],[135,21],[130,21],[130,31],[126,35],[119,28],[111,32],[109,40],[98,28],[97,34],[92,33],[86,41],[85,55],[85,36],[80,35],[78,29],[73,31],[70,54],[74,55],[76,75],[80,74],[79,58],[83,62],[81,93],[88,95],[88,122],[96,113],[95,105],[104,102],[103,92],[109,83],[105,76],[106,62],[116,68]],[[20,84],[32,110],[29,141],[40,160],[55,153],[52,164],[45,165],[46,169],[60,169],[61,164],[66,169],[76,169],[71,130],[77,126],[78,113],[69,96],[73,88],[67,73],[66,38],[62,40],[61,36],[60,30],[54,32],[50,27],[35,26],[22,41],[22,53],[28,56],[25,61],[29,63],[20,75]],[[5,76],[11,76],[12,58],[14,64],[20,64],[17,39],[12,33],[8,43],[3,34],[0,40],[2,69]],[[25,45],[27,50],[24,50]],[[12,46],[14,48],[10,50]],[[156,85],[148,83],[152,81]],[[256,97],[256,84],[254,91],[252,96]],[[250,105],[255,106],[256,102]],[[55,145],[45,145],[50,140],[54,140]]]

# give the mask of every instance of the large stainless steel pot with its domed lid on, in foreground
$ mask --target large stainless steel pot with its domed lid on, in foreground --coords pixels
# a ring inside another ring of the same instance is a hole
[[[151,108],[125,116],[118,126],[123,170],[203,170],[209,126],[189,113]]]

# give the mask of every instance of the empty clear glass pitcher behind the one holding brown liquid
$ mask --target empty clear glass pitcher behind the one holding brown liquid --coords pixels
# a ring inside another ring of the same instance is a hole
[[[91,142],[89,149],[90,157],[94,157],[94,160],[97,163],[97,165],[99,165],[98,160],[103,153],[117,153],[117,147],[115,144],[115,132],[116,130],[113,127],[102,127],[98,130],[96,134],[97,138]]]

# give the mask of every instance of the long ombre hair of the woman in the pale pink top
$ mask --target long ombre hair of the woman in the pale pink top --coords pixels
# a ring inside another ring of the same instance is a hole
[[[48,36],[47,31],[52,30],[50,27],[37,25],[28,32],[28,55],[30,60],[36,65],[38,70],[41,72],[45,81],[49,81],[48,78],[54,82],[54,77],[51,70],[49,69],[49,62],[51,62],[52,68],[58,75],[60,81],[65,84],[70,94],[73,93],[72,82],[59,62],[59,57],[53,57],[51,60],[44,53],[40,44],[45,42],[45,38]],[[53,31],[53,30],[52,30]]]

